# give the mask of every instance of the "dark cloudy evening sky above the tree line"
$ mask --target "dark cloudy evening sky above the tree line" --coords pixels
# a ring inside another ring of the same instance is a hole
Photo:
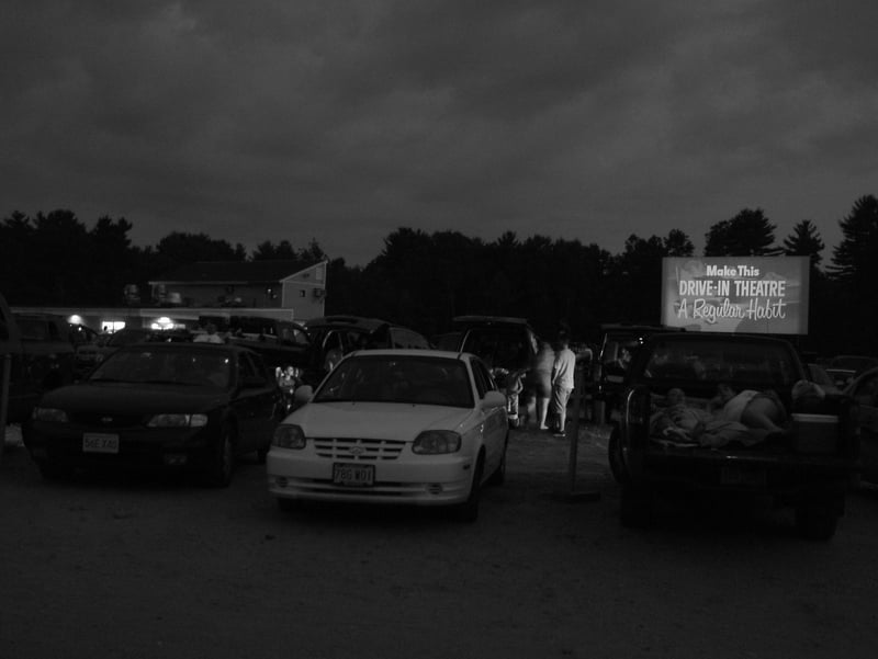
[[[0,213],[365,264],[398,227],[595,242],[878,194],[878,3],[4,0]]]

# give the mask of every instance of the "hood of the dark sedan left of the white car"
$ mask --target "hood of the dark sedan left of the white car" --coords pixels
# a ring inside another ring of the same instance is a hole
[[[145,411],[194,412],[226,405],[226,391],[185,385],[144,385],[132,383],[80,383],[46,393],[41,407],[66,411],[140,413]]]

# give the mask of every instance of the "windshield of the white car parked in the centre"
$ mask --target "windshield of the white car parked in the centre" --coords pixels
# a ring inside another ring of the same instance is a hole
[[[360,354],[329,374],[314,402],[368,401],[473,407],[466,365],[430,356]]]

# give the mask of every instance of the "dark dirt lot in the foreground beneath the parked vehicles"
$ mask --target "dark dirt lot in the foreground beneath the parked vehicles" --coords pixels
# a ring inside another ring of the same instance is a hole
[[[228,490],[44,482],[0,463],[0,657],[871,657],[878,497],[806,543],[780,513],[618,523],[604,435],[516,431],[474,524],[421,510],[281,513]],[[599,499],[588,495],[597,493]],[[573,496],[572,496],[573,495]]]

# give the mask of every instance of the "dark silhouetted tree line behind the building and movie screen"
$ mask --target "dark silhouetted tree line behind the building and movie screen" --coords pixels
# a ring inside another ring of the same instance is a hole
[[[778,240],[761,208],[744,208],[709,227],[705,257],[807,255],[811,262],[809,334],[800,346],[824,355],[876,354],[878,322],[878,200],[857,198],[838,220],[842,241],[824,261],[813,221],[799,221]],[[364,266],[324,253],[312,240],[294,247],[266,240],[250,253],[205,234],[172,231],[155,246],[132,245],[125,218],[98,218],[89,228],[74,212],[34,216],[13,212],[0,224],[0,281],[18,306],[120,306],[123,291],[194,261],[326,259],[327,314],[393,320],[432,336],[452,317],[487,314],[526,317],[549,334],[566,323],[584,341],[599,339],[603,322],[656,323],[661,318],[662,259],[694,257],[689,237],[632,234],[621,253],[596,243],[520,238],[507,231],[485,241],[460,231],[398,228]],[[144,300],[148,304],[148,300]]]

